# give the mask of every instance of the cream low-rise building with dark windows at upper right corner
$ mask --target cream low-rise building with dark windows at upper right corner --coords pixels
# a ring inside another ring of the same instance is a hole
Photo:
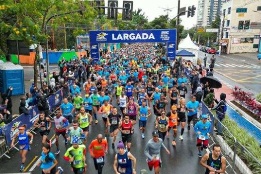
[[[222,6],[221,24],[223,19],[223,53],[261,51],[261,0],[226,0]]]

